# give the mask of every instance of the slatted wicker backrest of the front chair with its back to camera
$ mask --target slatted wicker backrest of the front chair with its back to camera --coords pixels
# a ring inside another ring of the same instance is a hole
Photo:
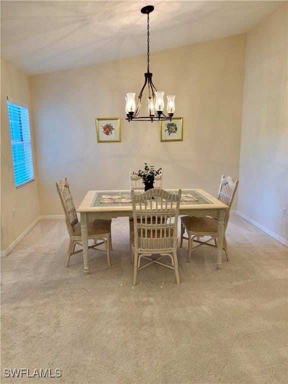
[[[144,193],[131,190],[136,249],[177,248],[177,223],[181,189],[170,193],[161,188]]]

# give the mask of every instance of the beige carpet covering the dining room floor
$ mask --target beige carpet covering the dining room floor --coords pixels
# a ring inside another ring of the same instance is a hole
[[[231,261],[201,247],[181,284],[153,264],[132,289],[127,218],[113,220],[112,267],[89,250],[64,267],[63,220],[41,220],[1,260],[2,383],[286,383],[287,248],[236,215]],[[161,288],[162,285],[162,288]],[[4,368],[60,378],[3,378]]]

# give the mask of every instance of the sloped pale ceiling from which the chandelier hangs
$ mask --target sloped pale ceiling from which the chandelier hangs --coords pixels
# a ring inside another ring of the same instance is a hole
[[[243,33],[283,1],[1,1],[1,57],[38,74]]]

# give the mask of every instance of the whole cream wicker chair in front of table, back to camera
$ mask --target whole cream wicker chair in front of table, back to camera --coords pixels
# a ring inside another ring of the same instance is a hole
[[[144,193],[131,190],[133,221],[130,223],[131,252],[134,259],[133,285],[136,285],[137,271],[152,263],[166,266],[175,271],[176,282],[180,283],[177,260],[177,222],[181,190],[170,193],[161,188],[149,189]],[[152,258],[152,254],[159,256]],[[171,264],[159,261],[168,255]],[[141,258],[148,260],[140,265]]]

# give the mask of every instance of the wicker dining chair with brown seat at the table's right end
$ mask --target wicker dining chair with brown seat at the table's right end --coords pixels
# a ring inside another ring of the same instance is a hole
[[[220,181],[220,186],[218,190],[217,198],[224,204],[228,205],[228,209],[224,218],[224,237],[223,237],[223,250],[225,251],[226,259],[228,257],[228,248],[226,240],[226,228],[228,225],[230,208],[233,202],[235,192],[237,190],[238,180],[233,180],[232,177],[223,174]],[[188,237],[184,236],[184,233],[187,233]],[[206,241],[201,241],[199,238],[203,236],[210,236]],[[182,216],[181,217],[181,241],[180,247],[183,245],[183,239],[188,240],[188,257],[187,261],[191,260],[191,251],[196,249],[201,245],[209,245],[212,247],[217,247],[217,220],[215,218],[204,216],[204,217],[194,217],[194,216]],[[214,244],[208,243],[208,241],[214,240]],[[198,243],[198,245],[193,247],[193,241]]]

